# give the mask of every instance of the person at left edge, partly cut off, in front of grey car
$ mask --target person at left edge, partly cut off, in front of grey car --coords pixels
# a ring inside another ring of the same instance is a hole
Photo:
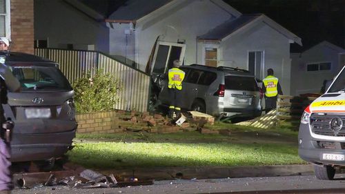
[[[10,68],[4,64],[7,54],[8,52],[0,51],[0,58],[3,59],[0,61],[0,194],[10,193],[13,188],[10,172],[11,130],[9,130],[13,127],[13,122],[6,121],[1,104],[8,103],[8,90],[11,92],[19,92],[20,90],[18,79],[14,77]]]

